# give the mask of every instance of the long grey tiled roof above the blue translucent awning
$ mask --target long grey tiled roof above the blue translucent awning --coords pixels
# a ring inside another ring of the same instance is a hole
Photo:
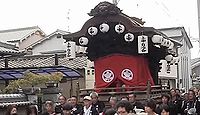
[[[65,66],[73,69],[83,69],[87,67],[87,57],[79,56],[72,60],[66,58],[65,55],[58,56],[58,65]],[[38,56],[23,56],[18,58],[9,58],[9,68],[20,68],[20,67],[46,67],[55,66],[54,55],[38,55]],[[4,60],[0,60],[0,68],[5,67]]]

